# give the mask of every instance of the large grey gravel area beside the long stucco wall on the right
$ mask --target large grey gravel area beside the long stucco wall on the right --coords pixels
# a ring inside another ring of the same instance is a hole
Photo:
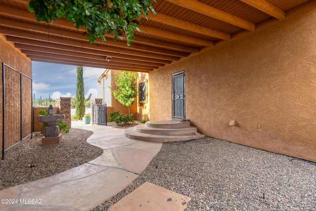
[[[136,180],[92,211],[106,211],[148,181],[189,196],[186,211],[315,211],[316,165],[205,137],[163,143]]]

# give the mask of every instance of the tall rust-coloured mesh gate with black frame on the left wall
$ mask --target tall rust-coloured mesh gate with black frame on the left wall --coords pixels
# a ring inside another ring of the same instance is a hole
[[[32,137],[32,78],[4,63],[0,78],[3,160],[6,150],[27,137]]]

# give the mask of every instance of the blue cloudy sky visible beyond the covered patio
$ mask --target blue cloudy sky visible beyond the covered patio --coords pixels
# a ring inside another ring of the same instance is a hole
[[[84,95],[97,98],[98,78],[105,69],[83,67]],[[33,94],[35,98],[72,97],[77,89],[77,66],[32,62]]]

